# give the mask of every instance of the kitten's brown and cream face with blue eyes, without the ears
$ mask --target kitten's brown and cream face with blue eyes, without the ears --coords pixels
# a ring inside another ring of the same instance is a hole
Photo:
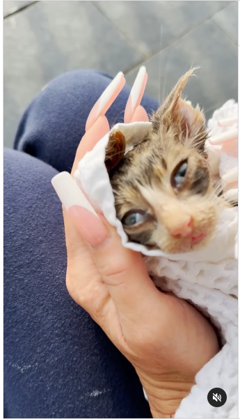
[[[207,162],[180,144],[163,152],[150,141],[113,174],[117,216],[131,241],[170,253],[197,250],[217,222]]]

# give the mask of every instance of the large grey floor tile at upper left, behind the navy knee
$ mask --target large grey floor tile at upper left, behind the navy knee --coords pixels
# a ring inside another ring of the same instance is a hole
[[[61,73],[96,68],[115,76],[143,55],[89,1],[40,1],[4,20],[4,142],[43,86]]]

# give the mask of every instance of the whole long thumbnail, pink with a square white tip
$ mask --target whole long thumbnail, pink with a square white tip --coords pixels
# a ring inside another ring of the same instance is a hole
[[[51,179],[51,184],[81,236],[90,245],[102,243],[109,232],[72,176],[62,172]]]

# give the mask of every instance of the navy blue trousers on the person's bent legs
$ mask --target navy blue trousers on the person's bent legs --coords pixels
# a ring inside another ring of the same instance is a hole
[[[111,77],[57,77],[4,150],[4,418],[151,418],[134,368],[67,293],[61,203],[85,123]],[[122,121],[130,88],[106,116]],[[156,100],[144,96],[147,112]],[[81,273],[79,273],[81,275]]]

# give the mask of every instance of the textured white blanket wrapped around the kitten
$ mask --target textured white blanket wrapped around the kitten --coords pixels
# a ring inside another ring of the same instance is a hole
[[[218,119],[235,116],[237,104],[229,100],[214,112],[208,123],[211,135],[230,128],[218,126]],[[149,123],[118,124],[126,137],[143,135]],[[98,206],[106,219],[117,228],[122,244],[145,255],[148,271],[161,289],[172,291],[180,298],[191,301],[211,318],[221,332],[223,348],[198,372],[191,393],[182,400],[175,418],[238,418],[238,304],[237,260],[234,257],[237,236],[237,208],[225,209],[211,243],[201,251],[183,254],[165,254],[160,250],[147,250],[143,245],[129,243],[121,222],[116,218],[113,192],[104,165],[105,147],[109,134],[102,138],[93,151],[86,153],[79,162],[75,180],[86,192],[93,205]],[[237,146],[237,144],[235,144]],[[223,176],[237,166],[234,153],[227,153],[221,146],[207,144],[214,174]],[[222,388],[227,402],[214,407],[207,401],[212,388]]]

